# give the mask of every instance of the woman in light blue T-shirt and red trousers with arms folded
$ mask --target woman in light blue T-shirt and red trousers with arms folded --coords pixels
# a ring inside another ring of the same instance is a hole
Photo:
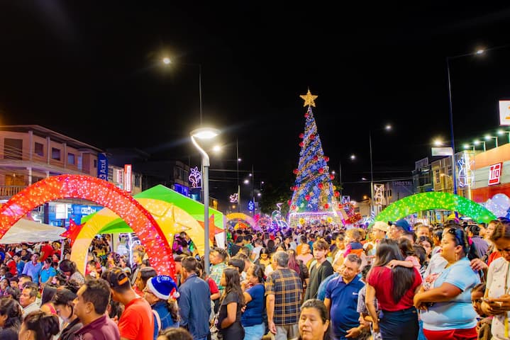
[[[470,267],[469,253],[464,229],[455,223],[445,227],[441,256],[447,264],[426,278],[414,296],[414,305],[423,310],[423,333],[428,340],[477,339],[471,290],[480,280]]]

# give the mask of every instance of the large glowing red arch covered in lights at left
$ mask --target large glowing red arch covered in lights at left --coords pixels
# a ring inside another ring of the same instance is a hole
[[[153,215],[126,191],[92,176],[52,176],[23,189],[0,208],[0,237],[34,208],[61,198],[90,200],[115,212],[138,235],[157,273],[175,277],[172,249]]]

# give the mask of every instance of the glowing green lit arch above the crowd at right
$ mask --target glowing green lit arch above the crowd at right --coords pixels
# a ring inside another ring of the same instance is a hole
[[[417,193],[397,200],[387,206],[375,217],[375,221],[396,221],[414,212],[433,209],[445,209],[457,211],[461,215],[471,217],[477,222],[489,222],[496,219],[496,216],[482,207],[478,203],[463,198],[462,196],[452,195],[451,193],[438,193],[431,191],[428,193]]]

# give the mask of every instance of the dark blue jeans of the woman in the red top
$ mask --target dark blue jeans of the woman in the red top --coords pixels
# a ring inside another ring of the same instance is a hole
[[[411,307],[397,312],[381,311],[379,329],[384,340],[416,340],[418,313]]]

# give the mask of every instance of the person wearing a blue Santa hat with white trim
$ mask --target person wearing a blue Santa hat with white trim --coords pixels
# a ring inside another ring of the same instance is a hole
[[[166,275],[154,276],[147,280],[143,289],[143,297],[149,302],[154,314],[154,340],[160,330],[179,327],[179,311],[177,302],[169,300],[172,291],[177,292],[175,281]]]

